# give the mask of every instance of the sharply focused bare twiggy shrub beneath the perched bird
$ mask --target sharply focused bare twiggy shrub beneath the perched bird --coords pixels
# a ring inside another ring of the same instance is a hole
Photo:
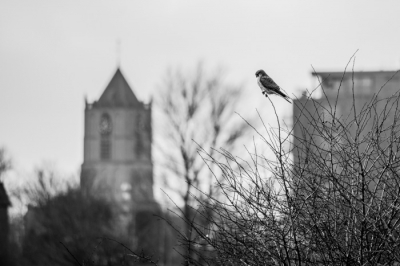
[[[186,220],[197,238],[183,244],[209,250],[192,265],[400,263],[400,92],[384,96],[385,83],[360,103],[351,78],[343,107],[343,78],[333,101],[323,81],[322,99],[295,101],[293,127],[276,112],[277,127],[253,127],[274,158],[256,141],[248,162],[203,150],[225,198],[198,199],[207,223]]]

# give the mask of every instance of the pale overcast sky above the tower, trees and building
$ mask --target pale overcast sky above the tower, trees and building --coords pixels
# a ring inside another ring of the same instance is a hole
[[[0,1],[0,146],[18,171],[50,161],[78,173],[84,96],[96,100],[120,65],[148,101],[168,67],[224,66],[265,105],[254,73],[289,94],[310,88],[311,64],[400,66],[400,1]],[[283,100],[281,111],[290,114]],[[248,105],[248,106],[247,106]],[[255,114],[255,111],[254,111]]]

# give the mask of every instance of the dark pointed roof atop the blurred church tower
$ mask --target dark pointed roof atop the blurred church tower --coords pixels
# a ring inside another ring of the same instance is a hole
[[[128,82],[125,80],[119,68],[107,85],[100,99],[94,106],[101,107],[136,107],[141,103],[136,98]]]

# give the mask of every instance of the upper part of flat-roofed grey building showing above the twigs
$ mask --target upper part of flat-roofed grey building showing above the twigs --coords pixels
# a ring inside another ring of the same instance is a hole
[[[376,112],[381,113],[385,108],[385,101],[379,100],[387,99],[400,91],[400,73],[397,71],[328,71],[312,73],[312,76],[317,84],[311,96],[315,102],[309,100],[309,95],[293,102],[294,147],[302,147],[305,135],[310,135],[310,132],[304,134],[303,131],[310,125],[312,116],[320,116],[320,122],[324,120],[327,125],[332,122],[328,112],[334,112],[336,118],[349,121],[354,112],[353,103],[358,113],[374,97],[377,100]],[[394,112],[388,113],[389,116],[393,114]],[[389,118],[387,121],[390,120]],[[366,119],[365,132],[372,129],[373,122],[373,119]],[[310,126],[310,130],[311,128],[315,129],[315,126]],[[315,137],[313,141],[315,145],[326,145],[319,137]],[[297,164],[301,155],[294,150],[293,156]]]

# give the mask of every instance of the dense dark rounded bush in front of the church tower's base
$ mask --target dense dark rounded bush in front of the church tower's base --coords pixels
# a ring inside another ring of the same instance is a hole
[[[22,265],[119,265],[126,250],[112,235],[111,206],[78,189],[31,207],[26,215]]]

